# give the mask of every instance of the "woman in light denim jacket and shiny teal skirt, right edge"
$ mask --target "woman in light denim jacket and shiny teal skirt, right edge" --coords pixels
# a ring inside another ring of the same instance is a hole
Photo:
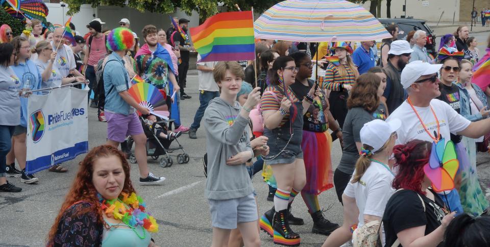
[[[471,83],[473,75],[472,62],[469,60],[461,60],[459,66],[459,81],[456,85],[459,87],[461,103],[460,114],[471,121],[487,118],[490,111],[488,110],[489,106],[486,96],[478,85]],[[459,197],[464,212],[474,216],[482,214],[489,206],[478,182],[478,174],[476,171],[477,141],[482,141],[482,138],[473,139],[465,136],[462,137],[461,142],[466,146],[470,165],[469,167],[461,167],[462,180],[461,188],[459,189]]]

